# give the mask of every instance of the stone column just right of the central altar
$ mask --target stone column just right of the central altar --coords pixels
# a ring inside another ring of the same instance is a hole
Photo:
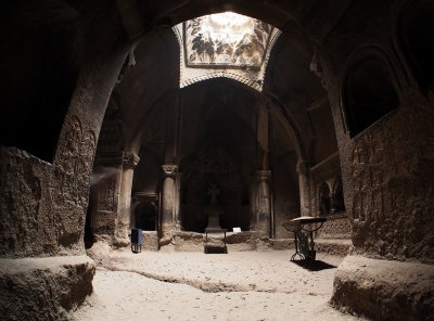
[[[259,237],[270,237],[271,224],[271,198],[270,198],[270,170],[257,170],[255,192],[255,230]]]

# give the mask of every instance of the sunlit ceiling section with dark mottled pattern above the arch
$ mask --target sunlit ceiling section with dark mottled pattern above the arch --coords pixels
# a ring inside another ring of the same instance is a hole
[[[225,12],[174,27],[181,53],[180,87],[228,77],[261,90],[272,44],[280,30],[255,18]]]

